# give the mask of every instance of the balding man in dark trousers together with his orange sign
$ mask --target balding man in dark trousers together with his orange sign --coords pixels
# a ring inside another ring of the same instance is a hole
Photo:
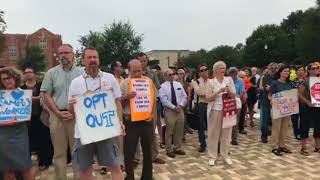
[[[154,106],[157,91],[152,80],[142,76],[139,60],[131,60],[128,68],[130,76],[121,83],[124,124],[126,126],[126,135],[124,136],[126,179],[134,180],[133,159],[140,138],[143,152],[141,179],[151,180],[153,120],[156,120]]]

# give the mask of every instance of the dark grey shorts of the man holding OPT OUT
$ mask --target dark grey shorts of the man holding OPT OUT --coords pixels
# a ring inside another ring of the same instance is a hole
[[[80,139],[75,140],[73,163],[80,170],[85,170],[94,164],[96,157],[100,166],[120,166],[120,151],[115,138],[82,146]]]

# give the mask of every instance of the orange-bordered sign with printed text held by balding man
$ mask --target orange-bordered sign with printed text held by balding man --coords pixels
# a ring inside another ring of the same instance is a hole
[[[131,121],[150,119],[154,108],[152,81],[146,78],[130,79],[129,91],[136,92],[136,96],[130,99]]]

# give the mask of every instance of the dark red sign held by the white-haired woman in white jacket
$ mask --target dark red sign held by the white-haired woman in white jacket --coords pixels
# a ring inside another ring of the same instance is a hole
[[[237,123],[237,104],[235,97],[222,94],[223,120],[222,128],[231,128]]]

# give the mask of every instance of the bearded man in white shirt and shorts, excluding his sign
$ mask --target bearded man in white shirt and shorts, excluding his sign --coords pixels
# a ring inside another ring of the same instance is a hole
[[[99,69],[99,54],[95,48],[86,48],[82,54],[82,64],[86,71],[75,78],[69,88],[69,111],[74,116],[75,97],[86,92],[111,90],[115,99],[117,113],[122,125],[121,91],[117,79],[110,73],[102,72]],[[85,119],[77,119],[85,121]],[[124,129],[123,129],[124,130]],[[82,145],[78,125],[75,126],[75,146],[73,149],[73,163],[80,170],[80,179],[93,179],[94,157],[97,157],[100,166],[107,166],[113,180],[122,180],[123,174],[120,168],[121,156],[116,138],[110,138],[99,142]]]

